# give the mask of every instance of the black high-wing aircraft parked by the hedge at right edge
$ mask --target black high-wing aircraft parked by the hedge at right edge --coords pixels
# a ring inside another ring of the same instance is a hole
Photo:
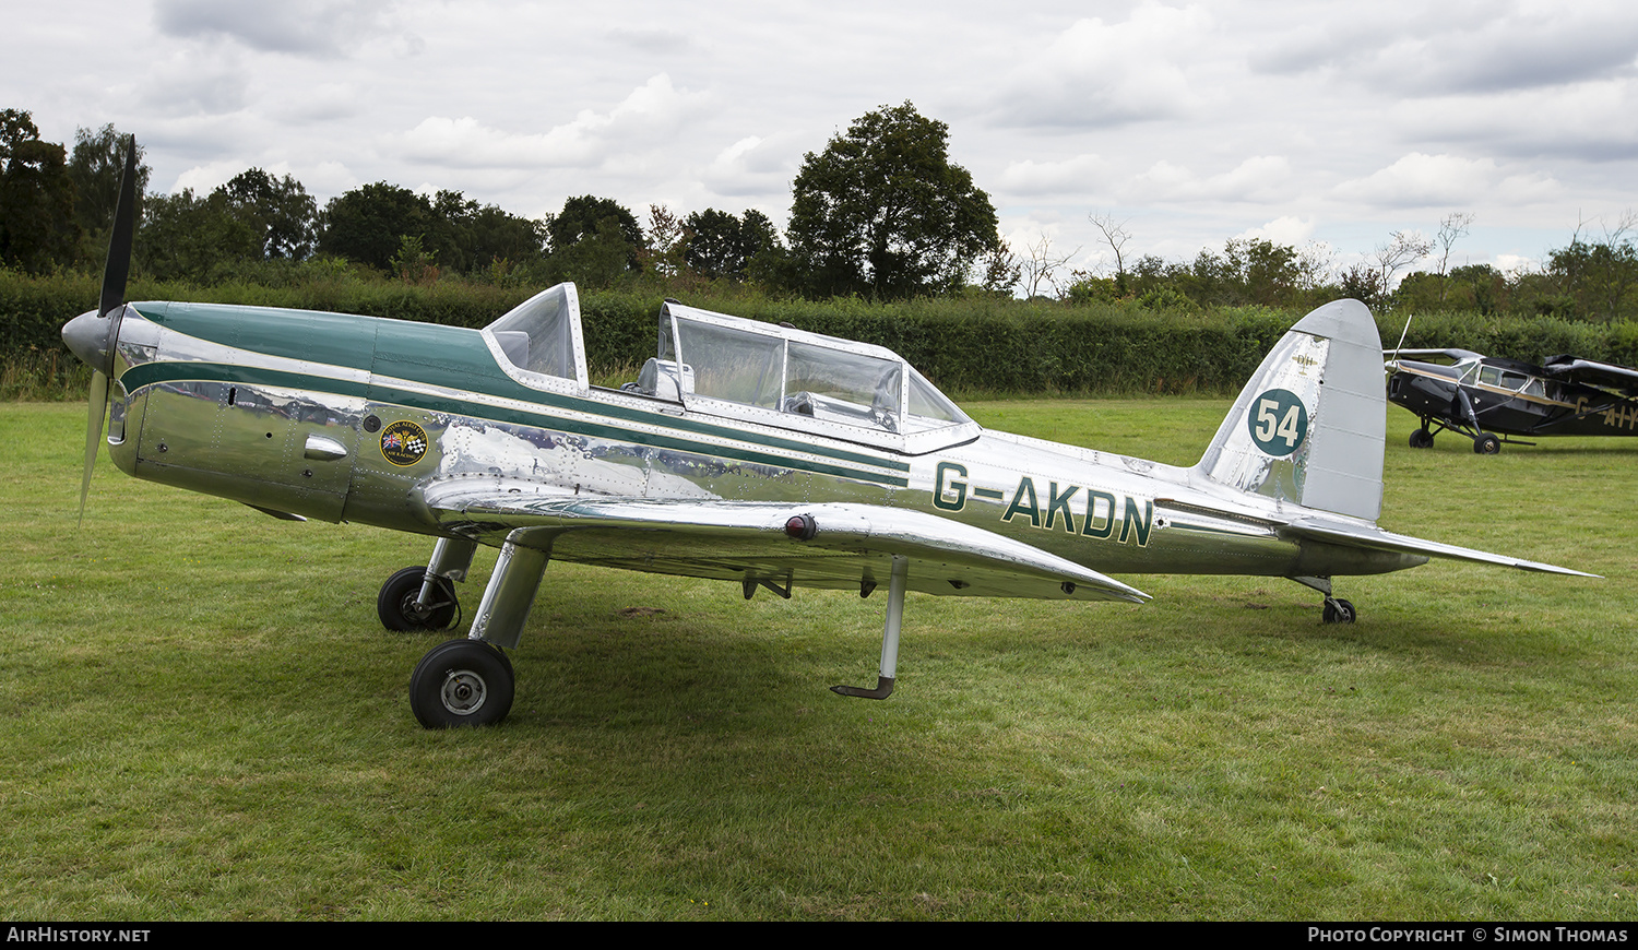
[[[1504,436],[1638,436],[1638,370],[1572,355],[1545,365],[1466,349],[1400,349],[1387,354],[1387,398],[1422,419],[1412,449],[1428,449],[1450,429],[1494,455]],[[1450,365],[1404,357],[1445,357]]]

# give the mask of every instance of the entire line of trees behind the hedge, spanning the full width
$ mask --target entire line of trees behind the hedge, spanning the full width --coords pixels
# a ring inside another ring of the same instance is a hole
[[[48,142],[28,111],[0,110],[0,265],[25,274],[102,265],[123,167],[111,124]],[[1192,260],[1132,256],[1127,221],[1093,215],[1114,267],[1081,270],[1042,234],[1025,247],[999,236],[989,195],[948,159],[948,126],[912,103],[855,120],[808,152],[791,187],[790,226],[717,208],[639,221],[596,195],[567,198],[537,219],[462,192],[421,195],[388,182],[319,206],[301,182],[246,169],[200,195],[143,195],[134,269],[159,280],[280,285],[341,272],[410,283],[460,278],[508,287],[575,280],[590,288],[706,292],[749,285],[771,296],[909,300],[988,295],[1130,301],[1148,310],[1304,308],[1353,296],[1378,310],[1477,311],[1617,321],[1638,311],[1638,218],[1599,234],[1582,223],[1540,269],[1451,267],[1473,215],[1451,213],[1435,238],[1399,231],[1348,269],[1333,254],[1268,239],[1232,239]],[[141,144],[138,144],[141,156]]]

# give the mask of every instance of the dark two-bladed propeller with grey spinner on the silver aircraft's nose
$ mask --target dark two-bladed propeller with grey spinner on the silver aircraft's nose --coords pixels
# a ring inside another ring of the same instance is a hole
[[[80,521],[85,519],[85,498],[92,490],[92,468],[97,465],[97,442],[102,441],[103,419],[108,414],[108,380],[115,372],[115,342],[120,339],[120,319],[124,316],[124,282],[131,274],[131,244],[136,233],[136,136],[124,151],[124,172],[120,175],[120,205],[113,215],[113,236],[108,239],[108,260],[103,264],[102,298],[95,316],[82,313],[62,328],[62,342],[92,367],[92,390],[87,400],[85,419],[85,475],[80,478]]]

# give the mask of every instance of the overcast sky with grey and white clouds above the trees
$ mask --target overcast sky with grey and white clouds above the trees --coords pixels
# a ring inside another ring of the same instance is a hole
[[[0,108],[136,133],[151,188],[247,167],[541,216],[570,195],[781,226],[803,154],[906,100],[1014,249],[1356,260],[1476,216],[1514,267],[1638,208],[1638,5],[1445,0],[3,0]]]

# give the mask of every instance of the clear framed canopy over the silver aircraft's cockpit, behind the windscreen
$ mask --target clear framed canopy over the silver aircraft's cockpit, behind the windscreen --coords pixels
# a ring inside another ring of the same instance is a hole
[[[667,301],[636,391],[717,416],[909,454],[980,428],[889,349]]]

